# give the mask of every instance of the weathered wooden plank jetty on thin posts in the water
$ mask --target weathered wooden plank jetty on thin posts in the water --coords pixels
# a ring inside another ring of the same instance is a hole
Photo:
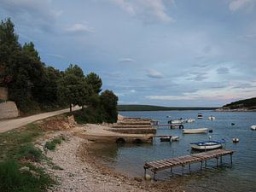
[[[217,149],[217,150],[202,152],[198,154],[190,154],[190,155],[184,155],[181,157],[170,158],[166,160],[155,160],[151,162],[146,162],[144,165],[144,171],[145,171],[144,176],[146,176],[147,170],[150,170],[151,172],[154,173],[154,180],[155,180],[155,175],[159,171],[171,168],[171,173],[172,173],[172,167],[182,166],[182,168],[184,169],[184,166],[186,165],[189,165],[189,172],[190,172],[190,165],[196,162],[201,162],[201,170],[202,170],[203,161],[205,161],[205,166],[207,167],[207,160],[211,160],[214,158],[216,159],[217,166],[218,166],[218,159],[220,159],[220,164],[222,164],[222,157],[228,154],[230,154],[230,163],[232,165],[233,153],[234,153],[233,150]]]

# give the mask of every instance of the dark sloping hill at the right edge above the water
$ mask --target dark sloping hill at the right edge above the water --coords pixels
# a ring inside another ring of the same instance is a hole
[[[231,102],[218,108],[217,111],[256,111],[256,97]]]

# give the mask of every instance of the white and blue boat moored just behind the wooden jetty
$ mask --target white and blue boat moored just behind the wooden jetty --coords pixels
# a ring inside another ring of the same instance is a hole
[[[225,140],[210,140],[206,142],[190,143],[191,148],[197,150],[210,150],[215,148],[222,148]]]

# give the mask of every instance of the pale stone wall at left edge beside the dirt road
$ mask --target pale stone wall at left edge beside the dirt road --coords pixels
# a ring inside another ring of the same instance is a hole
[[[19,110],[15,102],[1,102],[0,103],[0,119],[9,119],[18,117]]]

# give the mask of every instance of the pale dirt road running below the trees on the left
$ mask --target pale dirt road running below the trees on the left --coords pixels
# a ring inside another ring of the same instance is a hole
[[[80,109],[79,107],[74,107],[73,111],[76,111],[79,109]],[[51,116],[55,116],[57,114],[67,113],[67,112],[69,112],[69,108],[62,109],[59,111],[54,111],[54,112],[35,114],[32,116],[20,118],[20,119],[2,120],[0,121],[0,133],[5,131],[10,131],[12,129],[18,128],[23,125],[27,125],[39,119],[45,119]]]

